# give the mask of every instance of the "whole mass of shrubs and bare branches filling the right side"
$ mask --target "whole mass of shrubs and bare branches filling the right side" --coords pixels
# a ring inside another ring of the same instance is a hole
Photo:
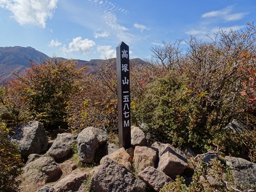
[[[136,120],[145,133],[198,153],[217,144],[226,155],[255,162],[255,34],[248,24],[220,30],[211,42],[191,37],[186,52],[178,43],[155,48],[153,63],[167,72],[136,98]],[[249,132],[225,130],[233,119],[244,120]]]

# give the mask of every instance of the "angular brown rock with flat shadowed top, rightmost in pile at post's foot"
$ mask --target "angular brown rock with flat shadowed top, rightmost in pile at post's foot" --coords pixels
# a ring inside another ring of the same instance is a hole
[[[158,169],[175,180],[176,176],[182,174],[187,166],[186,156],[170,144],[166,144],[159,158]]]

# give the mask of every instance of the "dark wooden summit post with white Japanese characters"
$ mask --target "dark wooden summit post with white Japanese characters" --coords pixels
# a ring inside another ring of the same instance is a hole
[[[123,41],[116,48],[119,147],[131,147],[129,46]]]

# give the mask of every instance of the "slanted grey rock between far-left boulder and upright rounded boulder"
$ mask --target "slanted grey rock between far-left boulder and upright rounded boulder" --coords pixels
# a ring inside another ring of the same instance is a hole
[[[61,133],[57,135],[52,146],[48,150],[48,155],[54,157],[56,161],[61,160],[72,153],[72,145],[76,143],[77,134]]]

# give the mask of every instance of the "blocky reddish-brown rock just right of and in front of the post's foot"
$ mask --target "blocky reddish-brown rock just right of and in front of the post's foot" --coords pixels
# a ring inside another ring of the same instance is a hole
[[[137,172],[141,172],[148,166],[156,167],[158,151],[156,148],[148,146],[136,146],[134,150],[134,166]]]

